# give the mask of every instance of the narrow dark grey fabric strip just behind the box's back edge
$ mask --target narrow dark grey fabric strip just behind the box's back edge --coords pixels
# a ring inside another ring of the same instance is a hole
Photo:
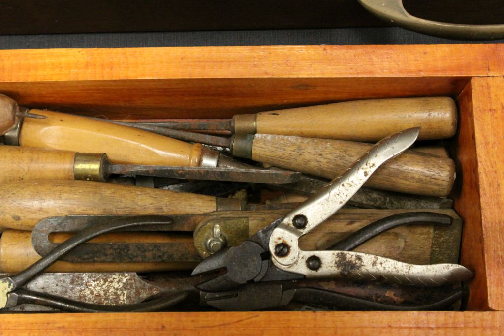
[[[396,27],[0,36],[0,49],[439,43],[471,42],[429,37]]]

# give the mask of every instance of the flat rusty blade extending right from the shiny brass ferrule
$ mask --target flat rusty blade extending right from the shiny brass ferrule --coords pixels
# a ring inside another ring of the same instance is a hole
[[[224,167],[170,167],[146,165],[110,165],[107,174],[144,175],[188,180],[234,181],[284,184],[297,181],[300,172],[288,170],[241,169]]]

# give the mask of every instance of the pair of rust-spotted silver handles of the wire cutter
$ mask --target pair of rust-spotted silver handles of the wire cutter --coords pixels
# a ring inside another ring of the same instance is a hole
[[[412,286],[442,286],[472,277],[466,267],[443,263],[415,265],[352,251],[303,251],[298,239],[336,213],[371,174],[416,140],[419,127],[385,138],[357,160],[343,175],[289,212],[273,230],[269,249],[282,271],[306,278],[344,278]]]

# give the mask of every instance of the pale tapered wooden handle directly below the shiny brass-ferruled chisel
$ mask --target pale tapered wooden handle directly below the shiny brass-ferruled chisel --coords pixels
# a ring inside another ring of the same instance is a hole
[[[216,198],[137,186],[79,180],[0,184],[2,227],[31,230],[40,220],[65,215],[184,215],[216,210]]]

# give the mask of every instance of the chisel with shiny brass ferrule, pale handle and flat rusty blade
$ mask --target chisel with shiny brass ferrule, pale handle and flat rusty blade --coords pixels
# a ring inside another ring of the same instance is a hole
[[[77,153],[19,146],[1,146],[0,182],[26,179],[78,179],[105,181],[111,174],[254,183],[290,183],[301,173],[291,171],[113,165],[104,153]]]

